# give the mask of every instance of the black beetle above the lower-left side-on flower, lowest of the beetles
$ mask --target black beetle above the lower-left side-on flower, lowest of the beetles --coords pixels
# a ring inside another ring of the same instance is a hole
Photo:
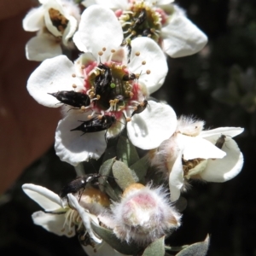
[[[61,198],[64,198],[67,196],[67,194],[78,193],[78,192],[81,192],[80,190],[82,189],[82,192],[79,193],[79,198],[80,198],[85,189],[85,186],[88,183],[90,183],[93,186],[96,186],[99,184],[99,181],[98,181],[99,177],[102,177],[102,175],[99,173],[90,173],[81,177],[77,177],[72,182],[67,183],[67,185],[65,185],[61,189],[59,195]]]

